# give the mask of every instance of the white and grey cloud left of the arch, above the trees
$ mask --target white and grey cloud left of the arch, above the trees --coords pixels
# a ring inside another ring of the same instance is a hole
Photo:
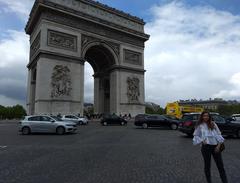
[[[25,103],[29,57],[28,36],[24,32],[8,31],[8,38],[0,41],[0,95],[3,101]],[[3,100],[3,97],[6,97]],[[12,102],[11,102],[12,103]]]

